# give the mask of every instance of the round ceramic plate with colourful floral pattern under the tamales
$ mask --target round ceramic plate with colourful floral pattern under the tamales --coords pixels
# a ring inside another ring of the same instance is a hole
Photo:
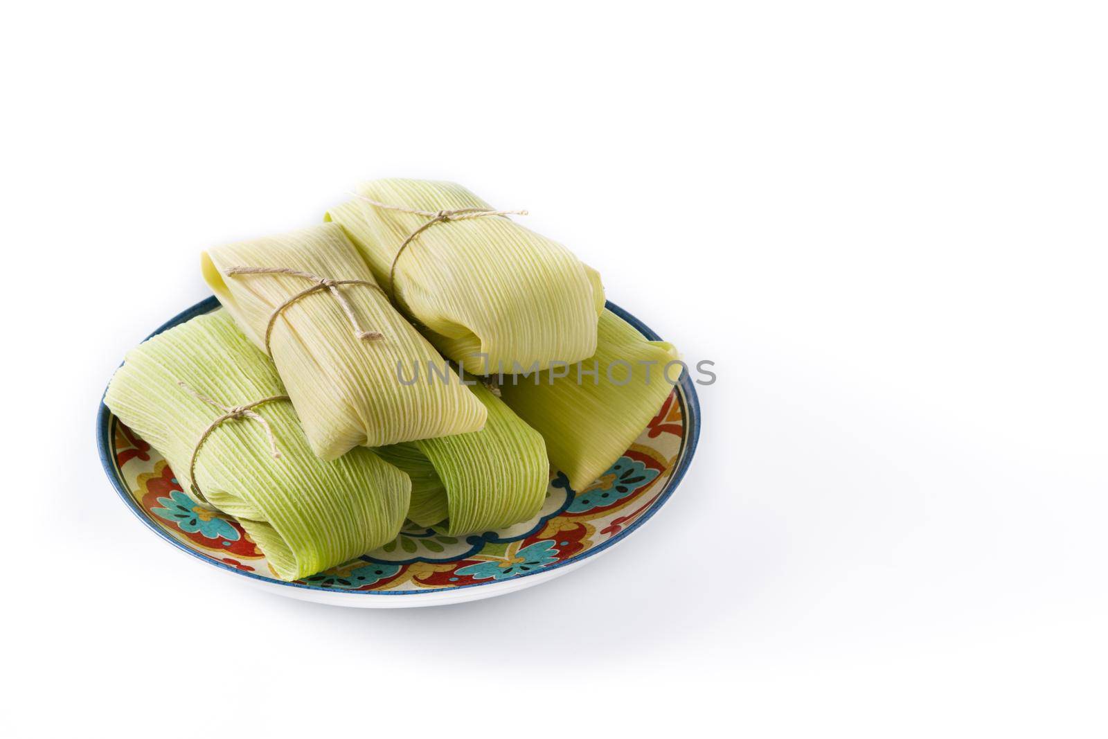
[[[203,300],[154,333],[215,310]],[[648,339],[658,337],[607,304]],[[100,458],[123,502],[178,550],[240,575],[244,583],[302,601],[343,606],[407,607],[475,601],[563,575],[627,538],[657,513],[688,469],[699,434],[696,390],[686,372],[643,433],[598,480],[572,490],[553,475],[533,521],[480,535],[448,536],[409,524],[381,548],[295,583],[277,579],[261,552],[230,516],[197,505],[165,460],[101,403]]]

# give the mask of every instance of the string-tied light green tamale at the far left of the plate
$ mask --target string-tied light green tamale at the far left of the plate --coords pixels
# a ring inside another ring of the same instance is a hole
[[[191,480],[196,442],[223,411],[178,382],[222,406],[242,406],[285,394],[276,368],[220,310],[132,349],[104,402],[165,456],[184,490],[195,482],[211,506],[238,519],[278,577],[312,575],[397,536],[410,502],[408,476],[368,449],[320,460],[287,400],[253,409],[268,421],[279,459],[259,421],[227,420],[201,447]]]

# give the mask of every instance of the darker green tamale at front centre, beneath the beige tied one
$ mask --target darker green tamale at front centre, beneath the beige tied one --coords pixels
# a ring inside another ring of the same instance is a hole
[[[408,517],[421,526],[449,519],[452,535],[533,519],[550,481],[538,432],[484,386],[470,389],[489,411],[481,431],[376,450],[412,479]]]

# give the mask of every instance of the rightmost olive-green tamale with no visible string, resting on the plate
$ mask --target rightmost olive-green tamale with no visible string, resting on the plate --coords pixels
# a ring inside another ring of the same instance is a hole
[[[554,372],[535,378],[505,378],[501,397],[546,440],[551,464],[581,490],[619,459],[654,418],[673,390],[663,376],[667,362],[678,358],[666,341],[648,341],[609,310],[601,316],[596,353],[581,363],[584,372],[598,367],[598,379],[581,374],[576,366],[566,377],[551,380]],[[627,368],[613,362],[630,365]],[[639,362],[657,362],[653,366]],[[607,368],[612,366],[608,379]],[[649,371],[649,382],[647,372]],[[673,370],[670,370],[673,373]]]

